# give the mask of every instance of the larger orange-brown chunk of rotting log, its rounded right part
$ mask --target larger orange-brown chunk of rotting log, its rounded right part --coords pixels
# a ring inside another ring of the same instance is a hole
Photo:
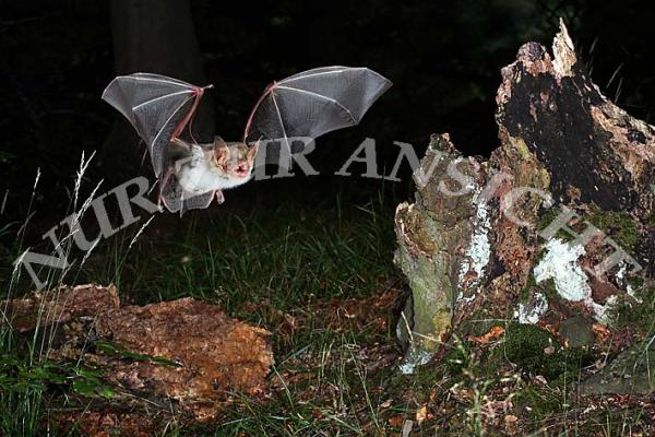
[[[231,392],[255,394],[273,365],[270,332],[191,297],[121,308],[99,318],[96,333],[130,352],[180,365],[115,362],[108,380],[187,404],[224,400]]]

